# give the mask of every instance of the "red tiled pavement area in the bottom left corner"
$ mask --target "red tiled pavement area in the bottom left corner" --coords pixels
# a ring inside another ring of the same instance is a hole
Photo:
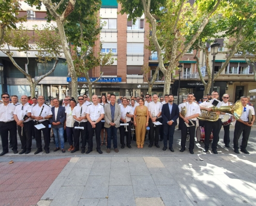
[[[36,205],[69,160],[0,162],[0,205]]]

